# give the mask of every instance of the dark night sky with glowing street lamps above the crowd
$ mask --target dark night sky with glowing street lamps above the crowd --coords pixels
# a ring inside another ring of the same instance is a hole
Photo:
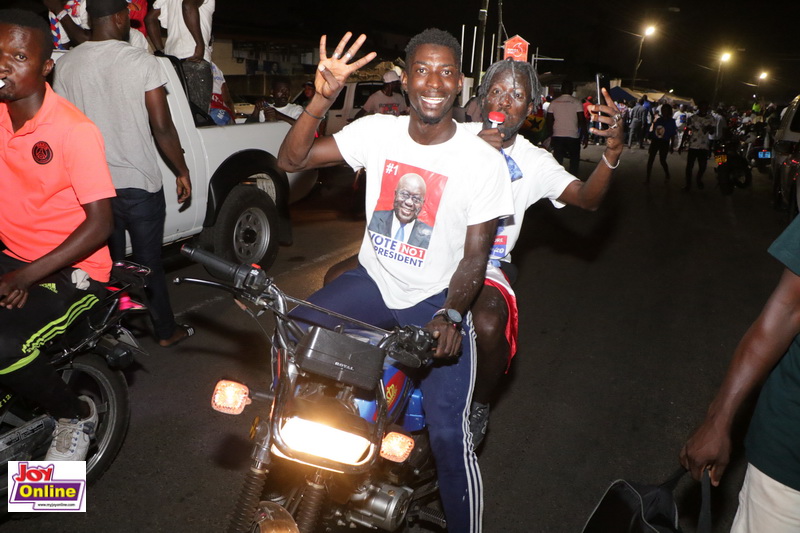
[[[674,89],[676,94],[696,100],[711,99],[719,56],[727,50],[733,53],[733,59],[722,67],[722,99],[737,103],[751,97],[755,87],[746,84],[754,85],[764,70],[769,77],[761,83],[761,92],[768,100],[787,103],[800,93],[800,7],[792,2],[786,5],[795,7],[782,14],[775,8],[755,11],[753,6],[759,3],[504,0],[503,20],[509,36],[521,35],[531,43],[531,51],[539,47],[541,55],[565,59],[540,63],[540,73],[552,71],[575,80],[588,80],[596,71],[603,71],[629,83],[640,41],[632,34],[641,33],[647,24],[655,24],[656,35],[644,43],[637,85]],[[321,33],[338,36],[345,29],[369,35],[370,28],[380,28],[410,36],[431,26],[449,30],[460,38],[465,24],[469,52],[472,28],[478,23],[482,2],[306,0],[283,7],[265,5],[263,16],[253,17],[254,5],[258,4],[268,3],[217,0],[217,21],[257,26],[267,34],[288,31],[314,40]],[[487,48],[496,31],[497,0],[490,0]],[[365,49],[368,47],[369,42]],[[467,57],[465,71],[469,69]]]

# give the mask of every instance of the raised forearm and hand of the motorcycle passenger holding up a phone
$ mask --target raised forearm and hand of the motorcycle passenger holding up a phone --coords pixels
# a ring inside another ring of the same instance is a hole
[[[603,96],[606,99],[606,105],[592,106],[592,120],[595,122],[603,122],[609,126],[616,125],[617,127],[609,127],[604,130],[591,128],[590,132],[606,138],[605,157],[609,164],[616,165],[625,144],[625,128],[621,123],[621,117],[619,119],[615,118],[620,115],[619,108],[605,89],[603,89]],[[605,113],[607,116],[600,115],[599,113]],[[605,198],[608,187],[611,184],[612,174],[613,169],[601,159],[597,163],[594,171],[592,171],[589,179],[585,182],[573,181],[570,183],[567,188],[564,189],[564,192],[561,193],[561,196],[558,197],[558,200],[565,204],[595,211],[600,206],[603,198]]]

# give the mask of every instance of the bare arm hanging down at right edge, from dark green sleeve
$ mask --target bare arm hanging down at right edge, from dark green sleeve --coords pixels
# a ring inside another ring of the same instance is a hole
[[[750,394],[764,382],[792,339],[800,333],[800,277],[784,270],[761,314],[745,333],[703,423],[681,450],[680,460],[695,479],[706,468],[719,485],[731,452],[731,427]]]

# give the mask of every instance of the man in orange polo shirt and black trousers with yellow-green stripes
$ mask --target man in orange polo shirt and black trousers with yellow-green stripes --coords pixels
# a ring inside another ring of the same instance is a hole
[[[114,185],[100,132],[45,81],[51,50],[43,19],[0,10],[0,384],[57,419],[46,460],[80,461],[97,411],[39,348],[104,290]]]

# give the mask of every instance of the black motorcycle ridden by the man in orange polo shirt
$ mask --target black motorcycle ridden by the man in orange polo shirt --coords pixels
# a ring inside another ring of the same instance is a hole
[[[113,462],[130,419],[128,385],[122,369],[144,352],[122,319],[139,309],[127,290],[142,287],[149,269],[130,262],[115,263],[108,292],[80,315],[67,330],[43,346],[45,357],[64,381],[97,406],[95,439],[86,456],[86,480],[96,481]],[[56,421],[43,410],[0,390],[0,490],[8,492],[8,461],[42,460],[50,447]]]

